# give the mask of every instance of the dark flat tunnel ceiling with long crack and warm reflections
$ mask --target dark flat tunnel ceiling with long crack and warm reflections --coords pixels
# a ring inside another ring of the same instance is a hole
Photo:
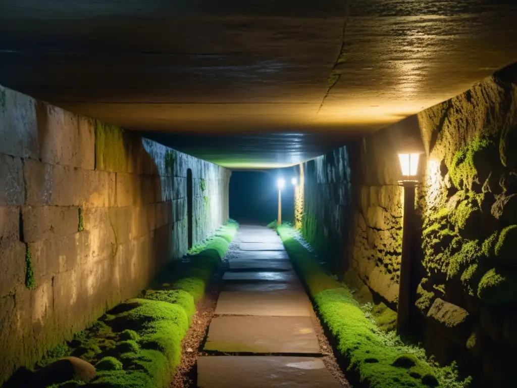
[[[517,61],[515,20],[512,0],[0,0],[0,83],[223,166],[286,166]]]

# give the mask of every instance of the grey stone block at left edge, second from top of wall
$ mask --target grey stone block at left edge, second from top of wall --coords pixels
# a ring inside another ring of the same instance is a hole
[[[22,160],[0,154],[0,206],[21,205],[25,200]]]

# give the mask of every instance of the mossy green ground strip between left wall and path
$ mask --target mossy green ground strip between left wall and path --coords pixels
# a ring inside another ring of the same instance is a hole
[[[97,369],[97,377],[86,385],[68,381],[51,387],[168,386],[180,362],[181,340],[195,314],[195,304],[203,297],[237,228],[237,223],[230,220],[188,263],[171,265],[154,287],[117,305],[87,330],[47,354],[41,366],[72,355]]]

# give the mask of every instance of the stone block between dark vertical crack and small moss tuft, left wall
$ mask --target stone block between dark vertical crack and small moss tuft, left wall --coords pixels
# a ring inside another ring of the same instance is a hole
[[[32,243],[77,233],[79,209],[75,206],[23,206],[23,237]]]

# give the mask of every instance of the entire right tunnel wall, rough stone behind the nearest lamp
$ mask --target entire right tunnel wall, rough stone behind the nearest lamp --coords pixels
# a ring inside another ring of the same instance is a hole
[[[440,363],[507,386],[517,351],[517,68],[304,163],[302,234],[363,301],[397,309],[398,152],[423,154],[414,204],[415,324]]]

